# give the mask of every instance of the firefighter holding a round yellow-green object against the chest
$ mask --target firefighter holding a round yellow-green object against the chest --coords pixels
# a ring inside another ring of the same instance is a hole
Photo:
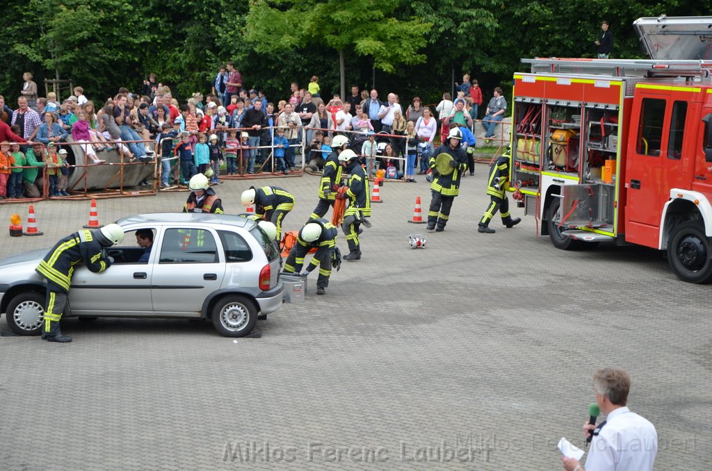
[[[465,149],[460,147],[461,140],[460,129],[457,127],[450,129],[447,142],[435,149],[434,154],[430,157],[430,175],[433,180],[430,184],[432,198],[428,211],[428,225],[426,226],[428,231],[442,232],[445,230],[452,203],[455,201],[455,196],[460,193],[460,177],[467,171],[467,154]],[[449,175],[441,175],[435,165],[440,154],[448,154],[452,157],[449,162],[452,171]]]

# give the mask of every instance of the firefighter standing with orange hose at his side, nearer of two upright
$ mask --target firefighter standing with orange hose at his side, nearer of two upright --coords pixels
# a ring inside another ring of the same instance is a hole
[[[371,227],[371,223],[366,219],[371,216],[371,192],[366,172],[355,152],[351,149],[342,151],[339,154],[339,162],[349,175],[346,191],[339,192],[337,198],[349,200],[341,228],[349,245],[349,254],[345,255],[344,260],[351,262],[361,260],[361,244],[358,237],[361,233],[361,224],[363,223],[367,228]]]

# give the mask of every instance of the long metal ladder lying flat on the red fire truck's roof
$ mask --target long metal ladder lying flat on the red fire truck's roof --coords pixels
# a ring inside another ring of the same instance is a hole
[[[686,77],[708,81],[712,72],[712,61],[709,60],[533,58],[522,59],[522,63],[530,64],[532,73],[610,77]]]

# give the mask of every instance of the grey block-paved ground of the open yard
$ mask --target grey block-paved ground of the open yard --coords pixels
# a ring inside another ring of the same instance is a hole
[[[582,445],[593,371],[612,365],[656,425],[656,469],[711,469],[710,288],[651,250],[555,250],[533,218],[478,234],[486,170],[425,250],[408,248],[424,227],[406,221],[416,196],[426,211],[426,182],[386,184],[362,260],[328,295],[270,314],[261,338],[73,319],[72,344],[1,337],[0,468],[556,470],[562,436]],[[269,183],[297,196],[286,226],[298,228],[317,178]],[[219,187],[228,211],[247,186]],[[178,210],[185,196],[103,200],[99,218]],[[46,235],[1,235],[0,255],[53,245],[88,208],[36,205]],[[0,221],[18,210],[1,206]]]

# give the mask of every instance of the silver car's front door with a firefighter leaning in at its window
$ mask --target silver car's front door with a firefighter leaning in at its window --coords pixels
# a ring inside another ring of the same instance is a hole
[[[130,231],[132,233],[132,231]],[[135,240],[127,236],[126,241]],[[126,250],[135,250],[127,246]],[[113,247],[110,250],[122,250]],[[121,263],[94,273],[83,265],[75,268],[69,291],[69,306],[77,315],[135,315],[152,312],[152,263]]]

